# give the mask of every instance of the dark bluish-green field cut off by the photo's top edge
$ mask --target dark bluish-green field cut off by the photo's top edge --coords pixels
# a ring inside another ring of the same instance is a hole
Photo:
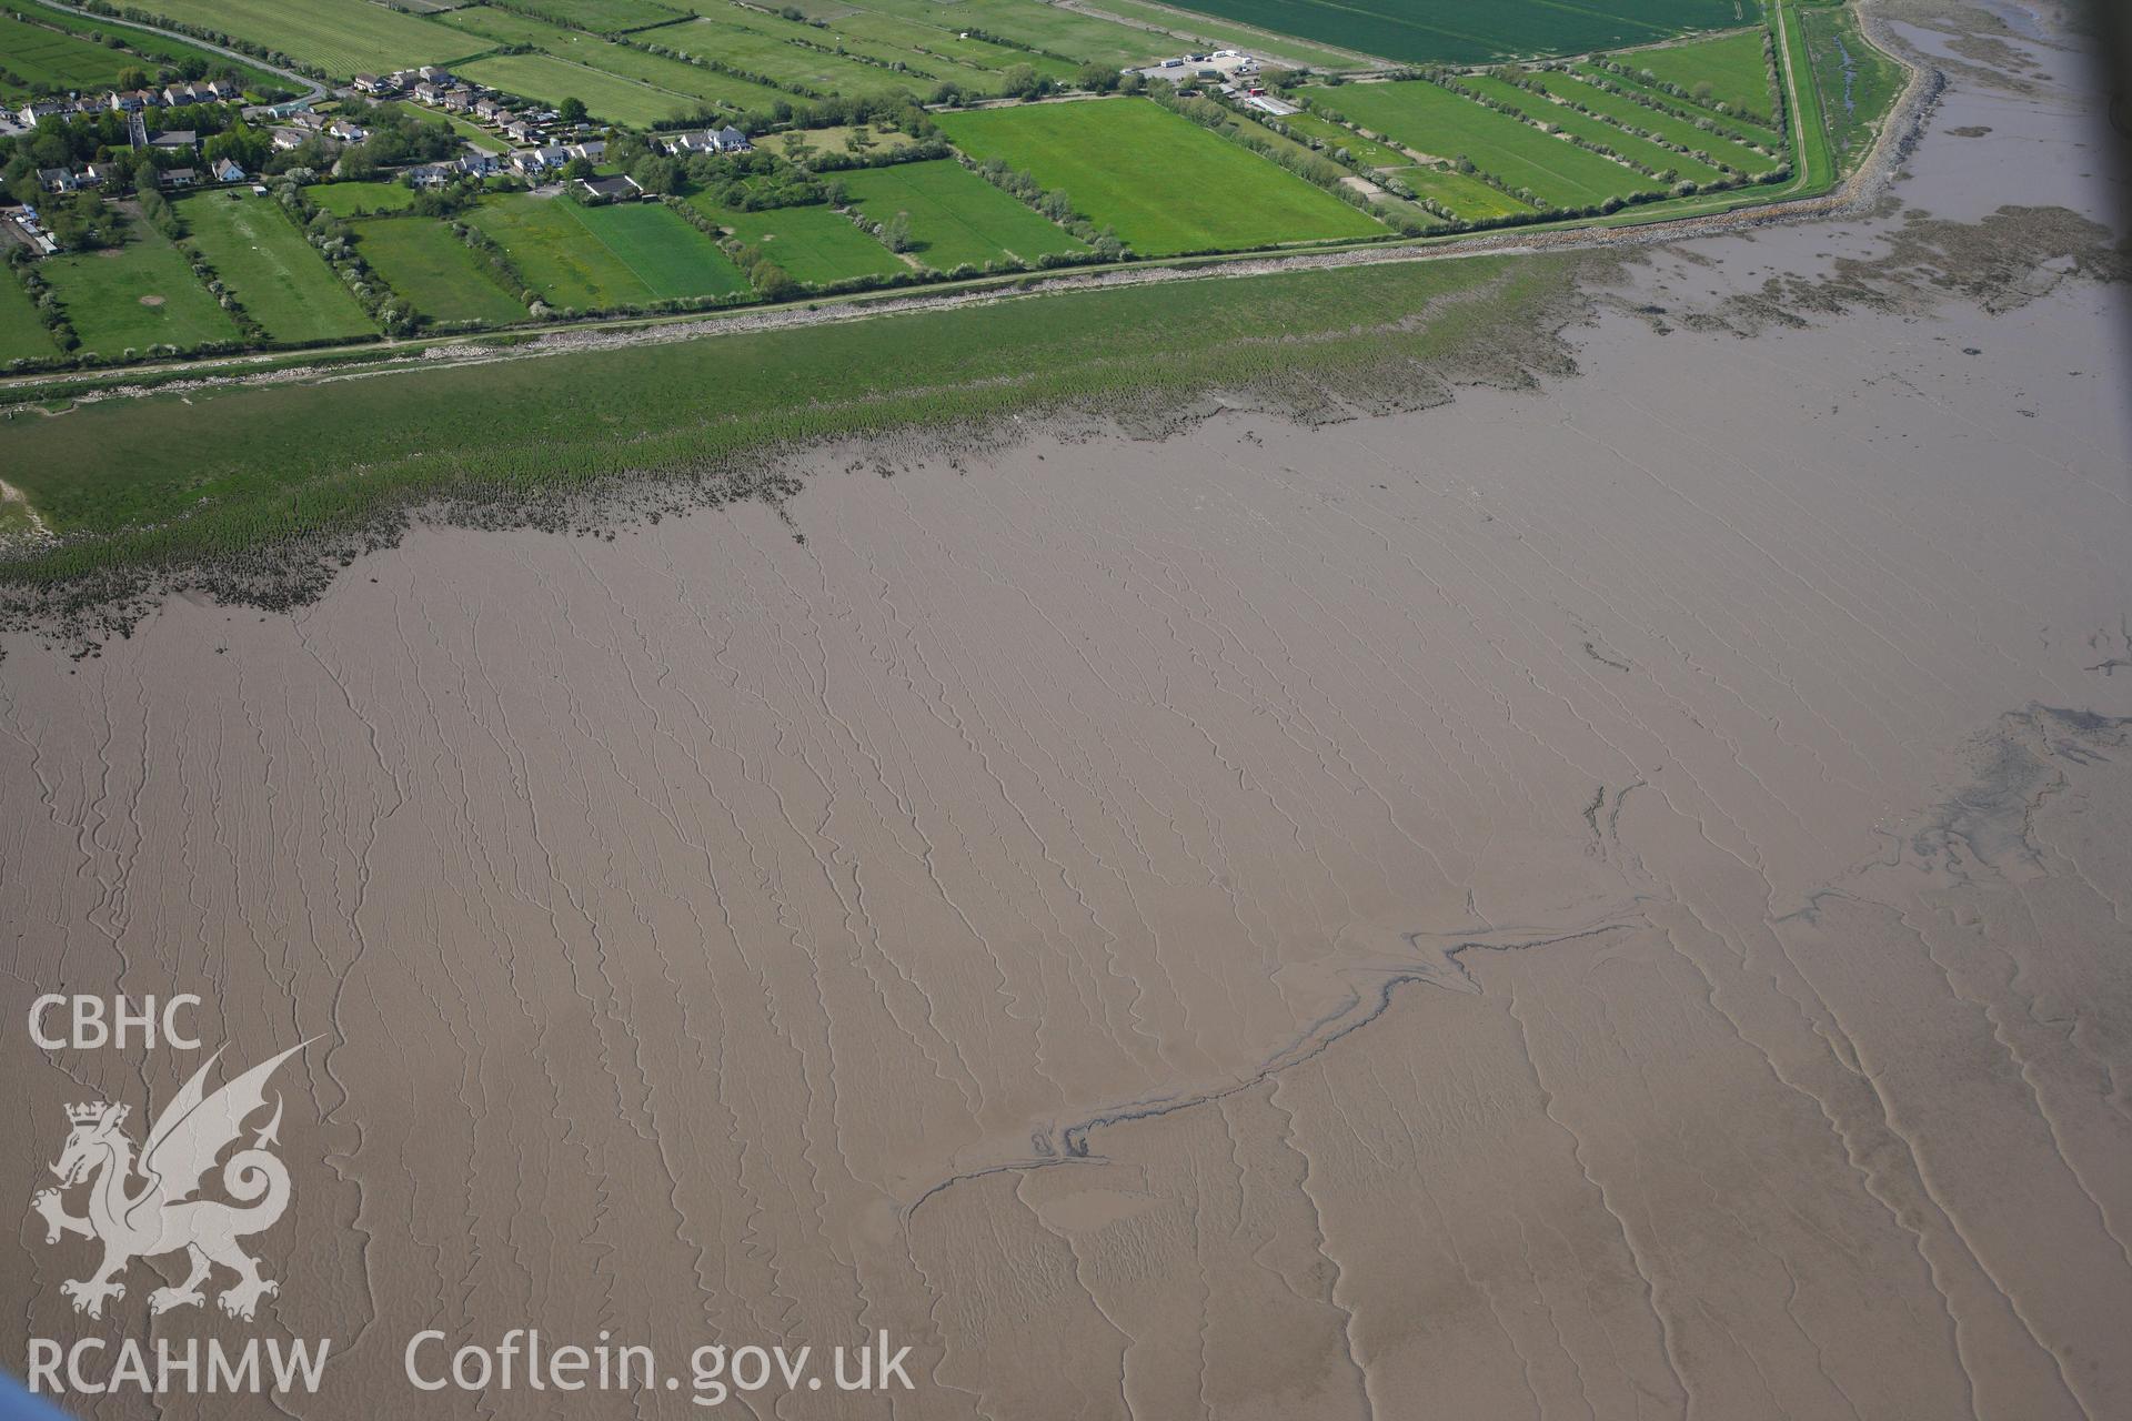
[[[1185,9],[1411,64],[1588,53],[1740,23],[1733,0],[1192,0]]]

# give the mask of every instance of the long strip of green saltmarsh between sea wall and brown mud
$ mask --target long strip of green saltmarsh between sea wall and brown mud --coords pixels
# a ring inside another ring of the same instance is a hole
[[[1554,360],[1554,311],[1601,260],[1205,277],[369,379],[190,388],[58,420],[6,411],[0,462],[60,541],[0,562],[0,586],[17,611],[173,582],[271,601],[414,505],[522,518],[601,486],[782,501],[795,486],[772,471],[834,439],[953,447],[1053,415],[1164,428],[1213,392],[1301,415],[1426,403],[1450,379],[1520,379]]]

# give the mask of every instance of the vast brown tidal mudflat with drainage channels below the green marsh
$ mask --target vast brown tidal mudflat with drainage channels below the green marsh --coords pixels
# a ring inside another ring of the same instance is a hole
[[[1650,251],[1524,388],[11,637],[0,1018],[320,1038],[249,1332],[326,1381],[162,1415],[593,1415],[409,1389],[512,1327],[912,1349],[780,1417],[2132,1412],[2091,121],[1957,79],[1889,205]],[[198,1065],[0,1050],[13,1197]],[[247,1332],[23,1246],[11,1359]]]

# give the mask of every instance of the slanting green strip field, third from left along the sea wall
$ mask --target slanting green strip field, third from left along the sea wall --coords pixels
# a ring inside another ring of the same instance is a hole
[[[203,192],[181,198],[177,215],[192,245],[271,339],[333,341],[377,330],[273,198]]]

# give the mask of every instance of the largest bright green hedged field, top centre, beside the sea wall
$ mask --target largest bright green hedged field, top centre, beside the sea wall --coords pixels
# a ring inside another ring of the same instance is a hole
[[[1143,100],[1104,98],[942,113],[940,128],[979,162],[1002,158],[1141,256],[1247,249],[1384,226],[1190,119]]]

